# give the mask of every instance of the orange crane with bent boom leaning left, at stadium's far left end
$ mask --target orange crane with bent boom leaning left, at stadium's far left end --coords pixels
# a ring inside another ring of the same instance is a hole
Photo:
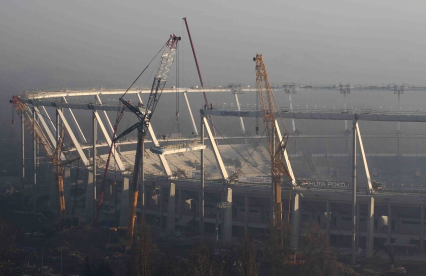
[[[58,202],[58,220],[63,222],[65,219],[65,197],[63,194],[63,169],[65,165],[72,163],[79,158],[71,160],[62,160],[60,156],[62,155],[62,146],[63,146],[63,137],[65,135],[65,128],[62,127],[62,131],[59,135],[59,140],[56,142],[56,148],[53,148],[52,145],[47,140],[46,136],[43,133],[40,125],[37,120],[32,116],[28,108],[20,101],[18,96],[13,96],[10,100],[10,103],[13,103],[19,117],[23,120],[26,128],[29,132],[35,134],[34,138],[38,140],[46,153],[47,157],[50,158],[53,165],[53,172],[56,176],[56,185],[57,185],[57,202]]]

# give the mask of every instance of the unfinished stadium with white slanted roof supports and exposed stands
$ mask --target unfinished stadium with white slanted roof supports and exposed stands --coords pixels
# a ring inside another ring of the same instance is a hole
[[[411,107],[401,111],[399,101],[404,90],[415,93],[425,88],[405,84],[295,83],[272,88],[275,95],[280,94],[277,101],[282,106],[276,116],[281,116],[290,126],[282,162],[292,179],[282,177],[280,191],[282,219],[288,221],[292,229],[291,246],[297,247],[302,224],[316,221],[331,245],[349,248],[355,236],[356,247],[364,249],[366,256],[372,256],[375,244],[383,242],[394,253],[423,253],[426,150],[422,141],[426,135],[421,131],[404,133],[400,127],[404,123],[416,123],[419,129],[426,122],[426,113]],[[348,108],[348,94],[357,91],[393,92],[397,95],[398,109]],[[136,99],[138,106],[143,106],[142,97],[149,92],[146,88],[132,88],[127,94]],[[183,95],[191,134],[187,137],[176,131],[158,135],[154,131],[156,121],[149,124],[136,220],[144,214],[168,235],[213,234],[219,225],[218,232],[225,243],[232,242],[244,227],[253,234],[262,234],[275,213],[270,152],[263,129],[254,134],[252,126],[258,118],[262,119],[262,110],[253,100],[246,100],[257,98],[257,89],[233,83],[215,88],[164,88],[162,92]],[[211,100],[208,104],[191,99],[199,99],[203,92]],[[341,94],[341,106],[308,106],[295,99],[295,95],[307,97],[325,92],[334,98]],[[27,179],[22,187],[26,193],[36,197],[49,194],[49,200],[55,202],[56,182],[50,178],[40,180],[37,175],[43,166],[49,168],[49,164],[42,161],[44,155],[39,152],[39,144],[48,143],[54,149],[61,141],[63,149],[56,152],[56,156],[65,160],[67,155],[66,159],[73,161],[64,169],[63,216],[79,217],[89,223],[99,205],[100,223],[127,226],[136,138],[126,136],[115,143],[111,140],[115,132],[111,118],[122,108],[114,98],[123,93],[122,89],[64,89],[27,91],[16,97],[25,106],[22,114],[30,112],[33,118],[32,125],[27,127],[34,133],[34,141],[31,141],[34,174],[28,177],[24,147],[30,143],[24,141],[25,116],[21,115],[22,177]],[[213,103],[223,101],[224,95],[232,102]],[[374,124],[363,132],[365,121]],[[311,130],[318,122],[332,123],[335,131],[325,134]],[[396,122],[391,132],[370,130],[374,125],[387,122]],[[225,133],[222,125],[232,128],[228,131],[230,134]],[[65,140],[59,126],[66,129]],[[45,141],[35,134],[36,129],[42,131],[37,135],[43,135]],[[280,131],[283,129],[277,125],[278,136]],[[110,146],[112,161],[107,164]],[[108,173],[99,204],[105,166]],[[201,175],[204,175],[202,179]],[[356,223],[352,223],[353,219]]]

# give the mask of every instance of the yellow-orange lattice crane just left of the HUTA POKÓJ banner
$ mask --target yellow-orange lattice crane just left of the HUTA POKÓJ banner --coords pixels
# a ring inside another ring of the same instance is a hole
[[[272,178],[272,195],[273,195],[273,222],[276,227],[280,227],[282,220],[282,204],[281,204],[281,175],[284,175],[289,180],[292,180],[288,168],[282,163],[282,157],[285,146],[287,145],[288,132],[280,116],[280,121],[283,126],[284,135],[279,138],[278,123],[275,118],[275,112],[279,108],[276,104],[272,89],[267,77],[266,68],[263,63],[262,55],[256,54],[253,57],[256,62],[256,83],[259,93],[260,107],[263,116],[263,124],[269,146],[271,159],[271,178]],[[258,127],[258,126],[256,126]]]

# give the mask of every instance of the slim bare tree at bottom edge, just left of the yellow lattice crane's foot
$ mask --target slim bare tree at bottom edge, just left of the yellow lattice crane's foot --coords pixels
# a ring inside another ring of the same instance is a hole
[[[248,236],[247,227],[244,228],[244,234],[239,246],[241,274],[243,276],[257,275],[256,258],[254,254],[254,244]]]

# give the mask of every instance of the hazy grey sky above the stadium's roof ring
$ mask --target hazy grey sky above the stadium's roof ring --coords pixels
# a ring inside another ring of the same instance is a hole
[[[256,52],[277,84],[424,84],[425,15],[423,0],[2,0],[0,84],[128,85],[170,33],[184,38],[181,81],[198,84],[185,16],[206,85],[255,83]]]

